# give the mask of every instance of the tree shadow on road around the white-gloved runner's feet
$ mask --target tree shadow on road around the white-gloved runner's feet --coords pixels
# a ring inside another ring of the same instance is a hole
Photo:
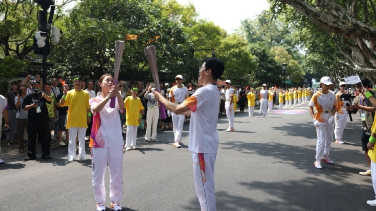
[[[333,146],[334,143],[332,143]],[[306,173],[313,175],[333,176],[338,179],[349,178],[351,174],[358,174],[359,171],[364,171],[366,164],[364,153],[362,151],[354,151],[352,149],[332,148],[330,152],[331,159],[335,164],[322,163],[323,170],[314,168],[316,145],[307,146],[291,146],[283,143],[248,143],[244,141],[232,141],[220,143],[220,148],[237,150],[245,154],[258,154],[264,157],[269,157],[270,163],[278,163],[295,166],[297,169],[305,170]],[[345,166],[342,163],[353,163],[359,168],[352,168]]]

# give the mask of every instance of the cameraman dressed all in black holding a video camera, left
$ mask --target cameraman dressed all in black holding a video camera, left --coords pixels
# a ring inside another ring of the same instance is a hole
[[[24,159],[36,159],[36,136],[38,135],[38,142],[42,145],[42,159],[51,159],[50,157],[50,143],[51,131],[49,130],[50,117],[47,111],[46,103],[51,103],[52,99],[44,92],[40,91],[40,82],[33,80],[31,83],[32,93],[26,95],[22,108],[27,113],[27,134],[29,136],[29,148],[27,157]]]

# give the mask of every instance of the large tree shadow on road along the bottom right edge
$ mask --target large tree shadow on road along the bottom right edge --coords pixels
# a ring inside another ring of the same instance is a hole
[[[248,189],[239,196],[227,191],[216,192],[217,211],[302,211],[302,210],[370,210],[365,202],[373,198],[372,185],[327,182],[309,177],[283,182],[239,182]],[[323,192],[325,190],[325,192]],[[243,192],[243,191],[241,191]],[[265,198],[264,196],[268,196]],[[199,210],[197,197],[184,210]]]

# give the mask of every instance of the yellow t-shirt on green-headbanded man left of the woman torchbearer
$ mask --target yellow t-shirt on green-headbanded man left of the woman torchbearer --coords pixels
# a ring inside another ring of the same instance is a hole
[[[79,92],[75,89],[67,92],[65,102],[61,104],[61,106],[69,106],[67,129],[69,127],[88,128],[86,119],[88,118],[87,110],[90,109],[89,99],[89,93],[83,89]]]

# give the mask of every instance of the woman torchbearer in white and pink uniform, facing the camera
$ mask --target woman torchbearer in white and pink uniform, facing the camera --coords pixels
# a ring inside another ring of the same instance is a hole
[[[105,171],[108,164],[111,208],[119,211],[119,201],[123,196],[123,135],[119,124],[119,110],[124,108],[124,101],[119,93],[119,85],[114,85],[112,75],[102,75],[98,85],[100,95],[89,100],[93,113],[89,143],[92,156],[92,185],[97,211],[106,210]],[[114,96],[115,108],[111,108],[110,99]]]

